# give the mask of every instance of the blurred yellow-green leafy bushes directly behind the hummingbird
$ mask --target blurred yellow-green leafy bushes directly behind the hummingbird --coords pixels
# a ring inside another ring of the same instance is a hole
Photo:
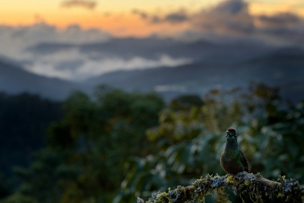
[[[269,179],[284,174],[304,182],[304,101],[287,104],[278,88],[252,84],[247,93],[211,91],[203,103],[161,112],[159,126],[147,131],[159,152],[129,162],[117,199],[132,202],[136,196],[190,184],[204,174],[224,174],[219,157],[223,132],[231,126],[238,130],[250,172]]]

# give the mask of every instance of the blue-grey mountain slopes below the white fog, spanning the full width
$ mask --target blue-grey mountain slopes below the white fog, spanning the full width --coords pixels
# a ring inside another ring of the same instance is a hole
[[[215,57],[176,67],[113,71],[82,82],[70,82],[36,75],[16,64],[0,61],[0,91],[27,91],[63,100],[73,90],[91,94],[97,85],[106,84],[128,91],[158,91],[167,99],[171,99],[178,94],[203,95],[210,89],[243,87],[250,81],[255,81],[282,86],[285,95],[298,99],[299,95],[304,93],[304,88],[300,88],[304,87],[301,77],[304,75],[303,64],[304,51],[287,47],[248,60],[242,58],[235,62],[222,62]],[[291,92],[288,92],[288,89]]]

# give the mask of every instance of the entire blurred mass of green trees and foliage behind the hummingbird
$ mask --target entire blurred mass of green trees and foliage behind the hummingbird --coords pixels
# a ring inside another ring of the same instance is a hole
[[[167,106],[155,93],[74,92],[64,117],[49,126],[46,146],[15,170],[20,186],[1,202],[134,202],[208,173],[224,175],[219,155],[228,127],[238,130],[250,172],[303,183],[303,101],[292,104],[263,84],[246,90],[184,95]]]

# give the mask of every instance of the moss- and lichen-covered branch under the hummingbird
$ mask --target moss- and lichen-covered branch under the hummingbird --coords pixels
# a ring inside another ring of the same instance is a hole
[[[271,181],[263,178],[260,174],[240,172],[236,175],[225,176],[210,176],[208,174],[205,178],[198,179],[189,186],[177,186],[175,190],[155,193],[146,203],[182,203],[196,199],[204,201],[205,195],[211,194],[212,191],[216,191],[220,198],[225,198],[227,202],[230,202],[223,192],[223,189],[230,185],[232,185],[235,194],[254,194],[259,200],[258,202],[273,196],[282,198],[284,201],[304,202],[304,185],[300,185],[297,180],[287,180],[284,176],[279,176],[278,181]],[[144,203],[144,200],[138,197],[137,202]]]

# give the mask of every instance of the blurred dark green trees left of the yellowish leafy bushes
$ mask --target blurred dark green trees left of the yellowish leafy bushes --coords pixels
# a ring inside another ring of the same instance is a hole
[[[74,92],[65,117],[48,129],[47,147],[4,202],[108,202],[120,187],[130,156],[151,153],[145,129],[157,125],[163,100],[155,93],[127,93],[99,87],[95,98]]]

